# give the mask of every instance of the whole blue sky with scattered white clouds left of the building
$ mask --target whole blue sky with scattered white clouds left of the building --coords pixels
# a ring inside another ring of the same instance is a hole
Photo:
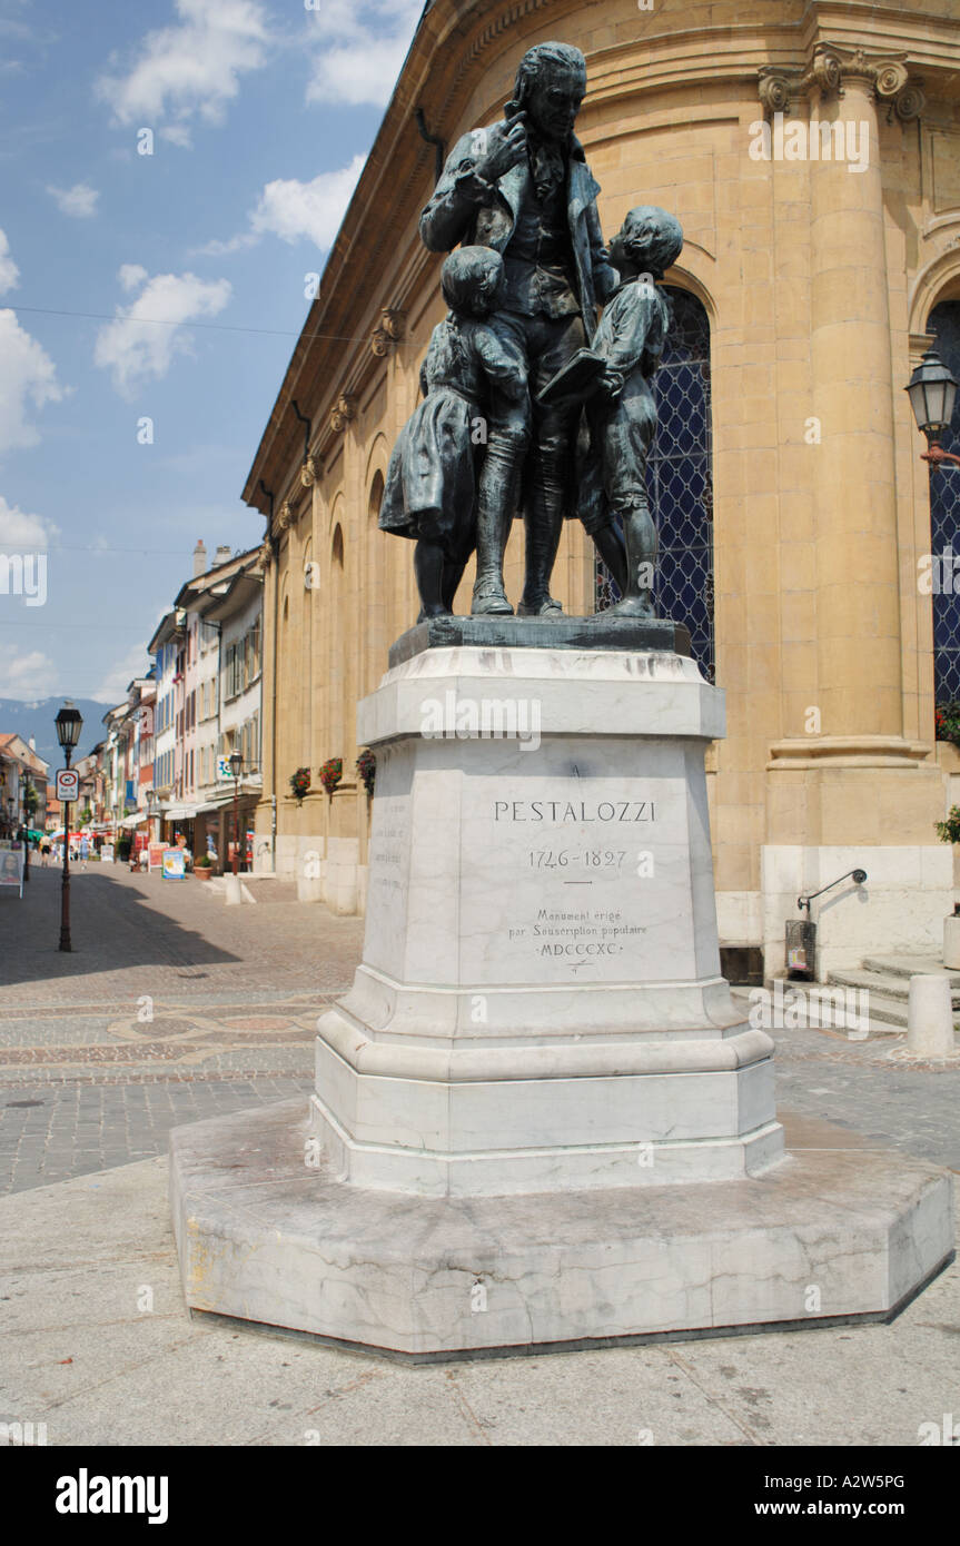
[[[46,553],[45,604],[0,592],[0,697],[117,700],[196,538],[260,541],[305,275],[422,9],[0,0],[0,553]]]

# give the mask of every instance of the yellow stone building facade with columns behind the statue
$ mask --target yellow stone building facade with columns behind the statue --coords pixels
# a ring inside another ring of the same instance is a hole
[[[425,9],[244,489],[267,523],[258,833],[275,796],[277,869],[320,855],[315,892],[363,908],[356,703],[417,612],[377,507],[444,314],[417,233],[439,148],[424,131],[448,148],[495,122],[523,53],[552,37],[586,54],[577,133],[604,233],[638,203],[685,229],[652,476],[660,604],[727,693],[710,753],[720,938],[779,969],[798,895],[863,866],[864,887],[813,904],[821,971],[937,951],[954,872],[934,822],[960,764],[934,708],[960,618],[917,578],[931,478],[903,386],[934,323],[960,337],[955,0]],[[943,504],[960,475],[934,476]],[[516,529],[513,601],[521,566]],[[577,523],[552,589],[570,612],[603,603]],[[345,778],[328,798],[331,756]]]

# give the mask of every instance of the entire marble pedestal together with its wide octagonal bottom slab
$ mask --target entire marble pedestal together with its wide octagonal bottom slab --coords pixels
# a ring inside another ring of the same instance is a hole
[[[309,1112],[173,1136],[187,1302],[414,1357],[889,1314],[949,1181],[784,1156],[719,971],[722,694],[618,625],[456,623],[359,710],[366,938]]]

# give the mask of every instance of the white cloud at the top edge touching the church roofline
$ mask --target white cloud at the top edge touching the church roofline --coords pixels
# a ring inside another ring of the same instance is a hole
[[[383,107],[422,11],[424,0],[315,0],[306,100]]]

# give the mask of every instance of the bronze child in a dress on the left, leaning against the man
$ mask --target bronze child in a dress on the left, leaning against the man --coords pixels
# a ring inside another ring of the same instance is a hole
[[[502,305],[504,283],[502,258],[490,247],[461,247],[444,263],[450,312],[430,339],[424,402],[390,458],[379,524],[417,544],[420,617],[453,611],[476,543],[476,472],[492,394],[499,417],[523,422],[529,413],[523,359],[485,320]]]

